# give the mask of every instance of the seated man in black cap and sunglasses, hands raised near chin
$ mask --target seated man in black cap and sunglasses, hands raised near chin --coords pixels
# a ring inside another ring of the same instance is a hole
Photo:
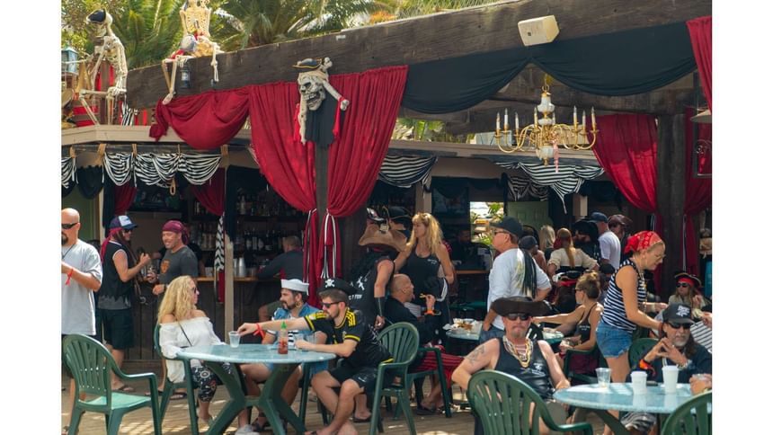
[[[690,334],[692,308],[672,304],[663,310],[660,342],[644,354],[635,369],[644,370],[647,380],[663,382],[663,367],[679,368],[677,382],[687,384],[695,375],[711,374],[711,354],[697,344]],[[627,379],[630,382],[630,376]],[[622,420],[631,433],[647,433],[653,429],[657,416],[652,413],[627,413]]]

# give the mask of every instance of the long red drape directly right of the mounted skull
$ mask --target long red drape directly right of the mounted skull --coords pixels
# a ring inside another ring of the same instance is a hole
[[[343,127],[330,146],[327,212],[321,253],[327,274],[342,276],[341,236],[334,218],[350,216],[368,200],[387,155],[403,98],[408,67],[386,67],[360,74],[333,75],[330,83],[351,102]],[[333,218],[328,218],[329,216]],[[333,268],[334,264],[334,268]]]

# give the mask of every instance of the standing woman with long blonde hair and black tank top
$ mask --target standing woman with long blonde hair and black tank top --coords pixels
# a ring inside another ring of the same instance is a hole
[[[417,317],[421,315],[424,305],[420,296],[425,293],[438,293],[444,283],[454,282],[454,269],[449,257],[449,251],[443,244],[443,232],[438,219],[429,213],[416,213],[411,219],[413,231],[405,250],[395,259],[395,271],[408,275],[413,282],[413,300],[405,303]],[[442,272],[440,272],[442,267]],[[401,271],[402,269],[402,271]],[[435,295],[440,301],[441,295]]]

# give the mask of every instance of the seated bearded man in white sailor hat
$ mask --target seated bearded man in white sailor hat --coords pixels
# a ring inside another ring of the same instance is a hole
[[[306,303],[308,297],[308,284],[301,280],[281,280],[281,292],[280,292],[280,304],[274,314],[271,316],[271,320],[292,320],[312,315],[319,311],[318,308],[310,306]],[[320,334],[321,336],[321,334]],[[288,331],[288,344],[293,344],[296,339],[300,337],[304,340],[311,340],[314,338],[314,333],[310,331]],[[266,330],[265,336],[263,336],[262,344],[271,344],[277,340],[276,330]],[[319,341],[318,341],[319,342]],[[324,340],[321,341],[324,343]],[[311,370],[311,375],[314,376],[318,371],[323,370],[327,366],[327,361],[315,362],[303,364],[298,367],[285,384],[282,389],[282,398],[285,399],[287,404],[292,404],[295,400],[295,396],[298,394],[298,379],[302,375],[301,369]],[[244,376],[253,381],[247,383],[247,392],[250,395],[259,395],[258,383],[263,382],[271,376],[273,370],[273,364],[244,364],[241,366]],[[258,415],[258,418],[253,422],[253,430],[262,432],[265,430],[267,419],[262,413]]]

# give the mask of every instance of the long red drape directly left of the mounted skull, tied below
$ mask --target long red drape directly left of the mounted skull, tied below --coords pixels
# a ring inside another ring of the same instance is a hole
[[[309,284],[308,300],[317,305],[316,289],[320,262],[316,221],[315,146],[302,144],[293,134],[298,85],[273,83],[249,86],[250,124],[253,149],[261,172],[271,187],[289,205],[308,213],[304,231],[304,280]]]

